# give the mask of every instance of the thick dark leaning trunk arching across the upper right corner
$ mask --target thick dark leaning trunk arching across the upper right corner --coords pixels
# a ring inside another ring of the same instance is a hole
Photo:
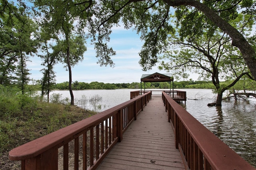
[[[222,31],[227,33],[232,39],[232,45],[240,49],[244,60],[256,80],[256,53],[252,46],[246,41],[244,36],[228,22],[224,21],[207,5],[200,3],[196,0],[164,0],[170,6],[194,6],[201,12],[203,12],[215,25],[217,25]]]

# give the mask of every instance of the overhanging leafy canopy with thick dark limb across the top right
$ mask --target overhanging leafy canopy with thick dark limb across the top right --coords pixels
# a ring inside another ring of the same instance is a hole
[[[238,47],[242,56],[256,78],[256,53],[254,50],[254,36],[239,32],[230,25],[231,19],[237,14],[250,14],[250,21],[255,23],[255,0],[104,0],[100,2],[99,12],[96,14],[98,37],[110,35],[112,26],[122,20],[125,28],[132,28],[140,33],[144,41],[139,63],[144,71],[150,70],[158,62],[158,55],[166,51],[168,34],[173,30],[173,14],[183,32],[183,37],[195,34],[200,36],[201,28],[219,27],[232,39],[232,46]],[[184,20],[185,19],[185,20]],[[207,21],[207,22],[206,22]],[[107,27],[106,27],[107,26]],[[101,31],[104,29],[104,31]],[[187,30],[187,31],[186,31]],[[106,32],[105,32],[106,31]],[[107,40],[109,39],[106,38]],[[253,41],[251,40],[253,39]],[[251,42],[249,43],[248,40]]]

